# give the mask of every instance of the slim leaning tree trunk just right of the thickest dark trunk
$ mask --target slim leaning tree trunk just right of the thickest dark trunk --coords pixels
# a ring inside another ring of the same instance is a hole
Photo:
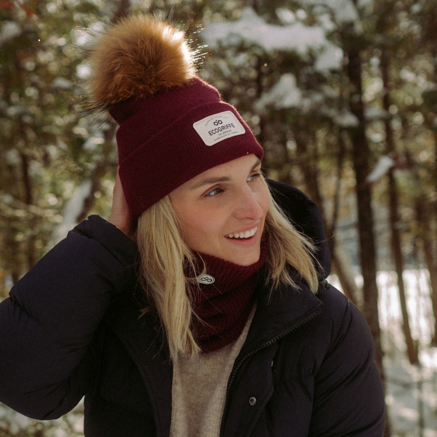
[[[388,49],[382,48],[381,55],[381,74],[382,82],[384,84],[384,94],[382,98],[383,109],[388,112],[390,108],[390,93],[389,93],[389,77],[388,77]],[[392,126],[390,120],[386,119],[384,121],[385,126],[385,144],[386,153],[393,154],[395,152],[395,142],[393,139]],[[413,341],[411,337],[411,329],[409,325],[409,316],[406,305],[405,296],[405,284],[402,277],[404,271],[404,262],[402,258],[402,248],[401,248],[401,233],[399,230],[399,194],[396,187],[396,180],[393,174],[393,168],[388,170],[388,203],[389,203],[389,226],[390,226],[390,245],[392,249],[392,256],[395,262],[395,270],[398,276],[398,288],[399,288],[399,300],[401,302],[402,310],[402,330],[404,332],[405,343],[407,346],[408,359],[411,364],[417,364],[419,358],[417,355],[417,343]]]

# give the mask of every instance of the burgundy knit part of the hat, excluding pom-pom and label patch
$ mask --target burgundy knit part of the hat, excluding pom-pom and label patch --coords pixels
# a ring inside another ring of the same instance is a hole
[[[225,111],[232,112],[244,133],[207,146],[193,124]],[[236,108],[199,77],[118,103],[109,112],[120,124],[119,173],[132,219],[203,171],[245,155],[264,155]]]

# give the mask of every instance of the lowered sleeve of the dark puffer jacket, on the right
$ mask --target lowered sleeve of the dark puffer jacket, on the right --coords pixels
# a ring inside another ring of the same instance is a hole
[[[337,290],[331,287],[327,292]],[[373,338],[357,307],[350,301],[345,310],[341,306],[342,311],[336,311],[339,320],[334,317],[329,332],[329,350],[315,375],[309,435],[380,437],[385,402]]]

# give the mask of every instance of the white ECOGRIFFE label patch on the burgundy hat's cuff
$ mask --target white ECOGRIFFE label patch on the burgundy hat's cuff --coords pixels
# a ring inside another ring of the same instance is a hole
[[[231,111],[209,115],[193,123],[193,127],[207,146],[213,146],[226,138],[242,135],[246,132]]]

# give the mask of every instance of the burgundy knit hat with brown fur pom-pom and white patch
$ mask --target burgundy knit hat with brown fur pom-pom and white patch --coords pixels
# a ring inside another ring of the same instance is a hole
[[[203,171],[264,152],[236,108],[196,76],[184,32],[148,15],[121,19],[89,50],[88,107],[119,124],[118,163],[131,218]]]

